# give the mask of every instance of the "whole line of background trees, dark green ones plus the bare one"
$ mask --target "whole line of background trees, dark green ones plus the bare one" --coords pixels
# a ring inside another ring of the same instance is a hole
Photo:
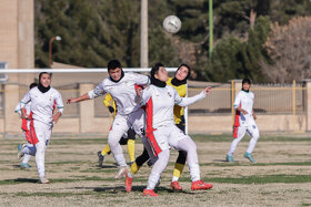
[[[140,65],[139,0],[34,0],[36,66],[53,61],[104,68],[119,59]],[[311,2],[309,0],[213,0],[213,53],[209,56],[209,0],[149,1],[149,64],[181,62],[192,79],[227,82],[248,76],[254,82],[288,83],[310,74]],[[175,14],[177,34],[162,21]]]

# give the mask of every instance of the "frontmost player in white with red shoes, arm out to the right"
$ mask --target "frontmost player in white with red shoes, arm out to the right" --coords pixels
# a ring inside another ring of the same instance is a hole
[[[144,196],[158,196],[153,189],[168,165],[171,147],[187,152],[192,190],[212,187],[211,184],[205,184],[201,180],[195,143],[177,127],[173,116],[175,104],[182,107],[193,104],[204,99],[210,92],[210,87],[207,87],[195,96],[180,97],[174,87],[167,85],[168,80],[167,70],[161,63],[157,63],[151,70],[151,85],[142,92],[137,90],[138,95],[141,97],[141,103],[146,105],[146,134],[154,154],[158,156],[158,161],[151,169],[147,188],[143,190]]]

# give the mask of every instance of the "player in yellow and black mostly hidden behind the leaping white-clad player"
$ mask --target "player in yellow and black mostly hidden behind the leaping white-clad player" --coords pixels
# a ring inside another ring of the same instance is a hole
[[[117,115],[117,107],[116,102],[112,100],[111,95],[108,93],[104,95],[103,104],[106,107],[108,107],[109,112],[112,114],[113,118]],[[132,164],[136,159],[134,156],[134,147],[136,147],[136,132],[130,128],[127,134],[122,136],[120,139],[120,145],[128,145],[129,156],[130,156],[130,164]],[[109,155],[111,153],[109,144],[106,145],[106,147],[102,151],[98,152],[98,162],[99,166],[102,167],[102,162],[104,159],[106,155]]]

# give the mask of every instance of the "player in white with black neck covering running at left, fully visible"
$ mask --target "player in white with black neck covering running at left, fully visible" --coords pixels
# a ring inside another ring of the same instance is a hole
[[[61,94],[51,84],[51,74],[42,72],[39,74],[39,84],[31,89],[21,100],[21,108],[31,102],[30,110],[32,112],[32,121],[30,123],[30,133],[32,144],[36,149],[29,148],[27,154],[36,155],[36,165],[39,173],[41,184],[50,183],[46,178],[44,157],[46,149],[49,145],[53,122],[58,123],[59,117],[63,113],[63,104]],[[54,114],[54,107],[58,112]],[[22,118],[27,118],[24,110],[21,110]]]

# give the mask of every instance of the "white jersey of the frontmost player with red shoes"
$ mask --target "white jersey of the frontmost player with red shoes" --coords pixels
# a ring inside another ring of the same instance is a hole
[[[148,107],[147,118],[152,118],[152,121],[148,120],[148,123],[150,124],[151,121],[153,128],[162,125],[174,125],[174,105],[188,106],[204,97],[204,91],[192,97],[180,97],[175,89],[171,85],[167,85],[165,87],[149,85],[142,91],[141,95],[142,104]]]

